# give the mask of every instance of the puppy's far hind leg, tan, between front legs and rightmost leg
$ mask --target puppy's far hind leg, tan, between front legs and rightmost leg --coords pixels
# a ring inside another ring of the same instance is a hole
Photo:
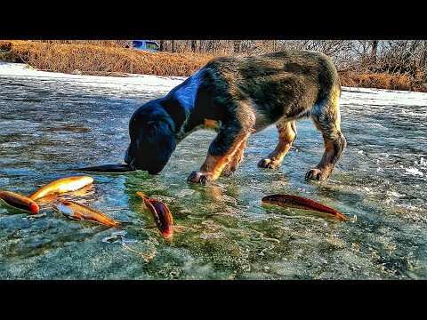
[[[294,120],[279,122],[278,128],[278,146],[265,159],[262,159],[258,166],[262,168],[277,169],[291,148],[296,138],[296,126]]]

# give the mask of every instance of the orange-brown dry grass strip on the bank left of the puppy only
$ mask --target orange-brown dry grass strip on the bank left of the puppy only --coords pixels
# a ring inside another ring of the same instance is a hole
[[[115,46],[11,41],[12,52],[34,68],[54,72],[117,75],[191,76],[211,55],[143,52]]]

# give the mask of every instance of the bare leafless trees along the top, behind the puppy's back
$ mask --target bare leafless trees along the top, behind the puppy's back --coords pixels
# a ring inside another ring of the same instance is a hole
[[[340,70],[427,80],[427,40],[157,40],[163,52],[247,55],[285,49],[324,52]]]

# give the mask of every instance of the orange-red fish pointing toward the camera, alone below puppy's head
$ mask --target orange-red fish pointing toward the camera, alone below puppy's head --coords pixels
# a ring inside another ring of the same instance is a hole
[[[141,196],[144,200],[145,206],[153,215],[156,227],[162,236],[165,238],[171,238],[173,236],[173,217],[167,205],[156,198],[145,196],[141,191],[138,191],[137,194],[138,196]]]

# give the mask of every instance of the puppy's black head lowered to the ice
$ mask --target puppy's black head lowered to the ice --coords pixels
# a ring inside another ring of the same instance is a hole
[[[157,100],[138,108],[129,121],[125,163],[149,174],[161,172],[176,148],[175,124]]]

